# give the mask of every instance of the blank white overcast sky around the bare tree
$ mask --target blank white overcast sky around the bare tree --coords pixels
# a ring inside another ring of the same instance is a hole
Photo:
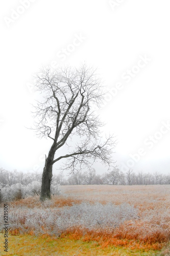
[[[169,0],[1,1],[0,167],[42,170],[52,141],[25,127],[32,77],[42,66],[86,61],[112,92],[99,114],[116,136],[119,168],[168,174],[169,8]]]

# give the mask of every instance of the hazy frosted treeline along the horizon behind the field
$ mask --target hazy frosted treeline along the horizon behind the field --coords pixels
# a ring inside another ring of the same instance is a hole
[[[18,183],[25,186],[33,181],[41,181],[41,178],[42,173],[38,172],[22,173],[17,170],[11,172],[0,168],[1,188]],[[52,181],[60,185],[156,185],[170,184],[170,174],[165,175],[159,172],[151,174],[142,171],[136,173],[133,170],[123,173],[118,168],[115,168],[110,172],[100,175],[96,173],[95,169],[90,169],[88,172],[76,171],[67,177],[59,173],[58,175],[53,175]]]

